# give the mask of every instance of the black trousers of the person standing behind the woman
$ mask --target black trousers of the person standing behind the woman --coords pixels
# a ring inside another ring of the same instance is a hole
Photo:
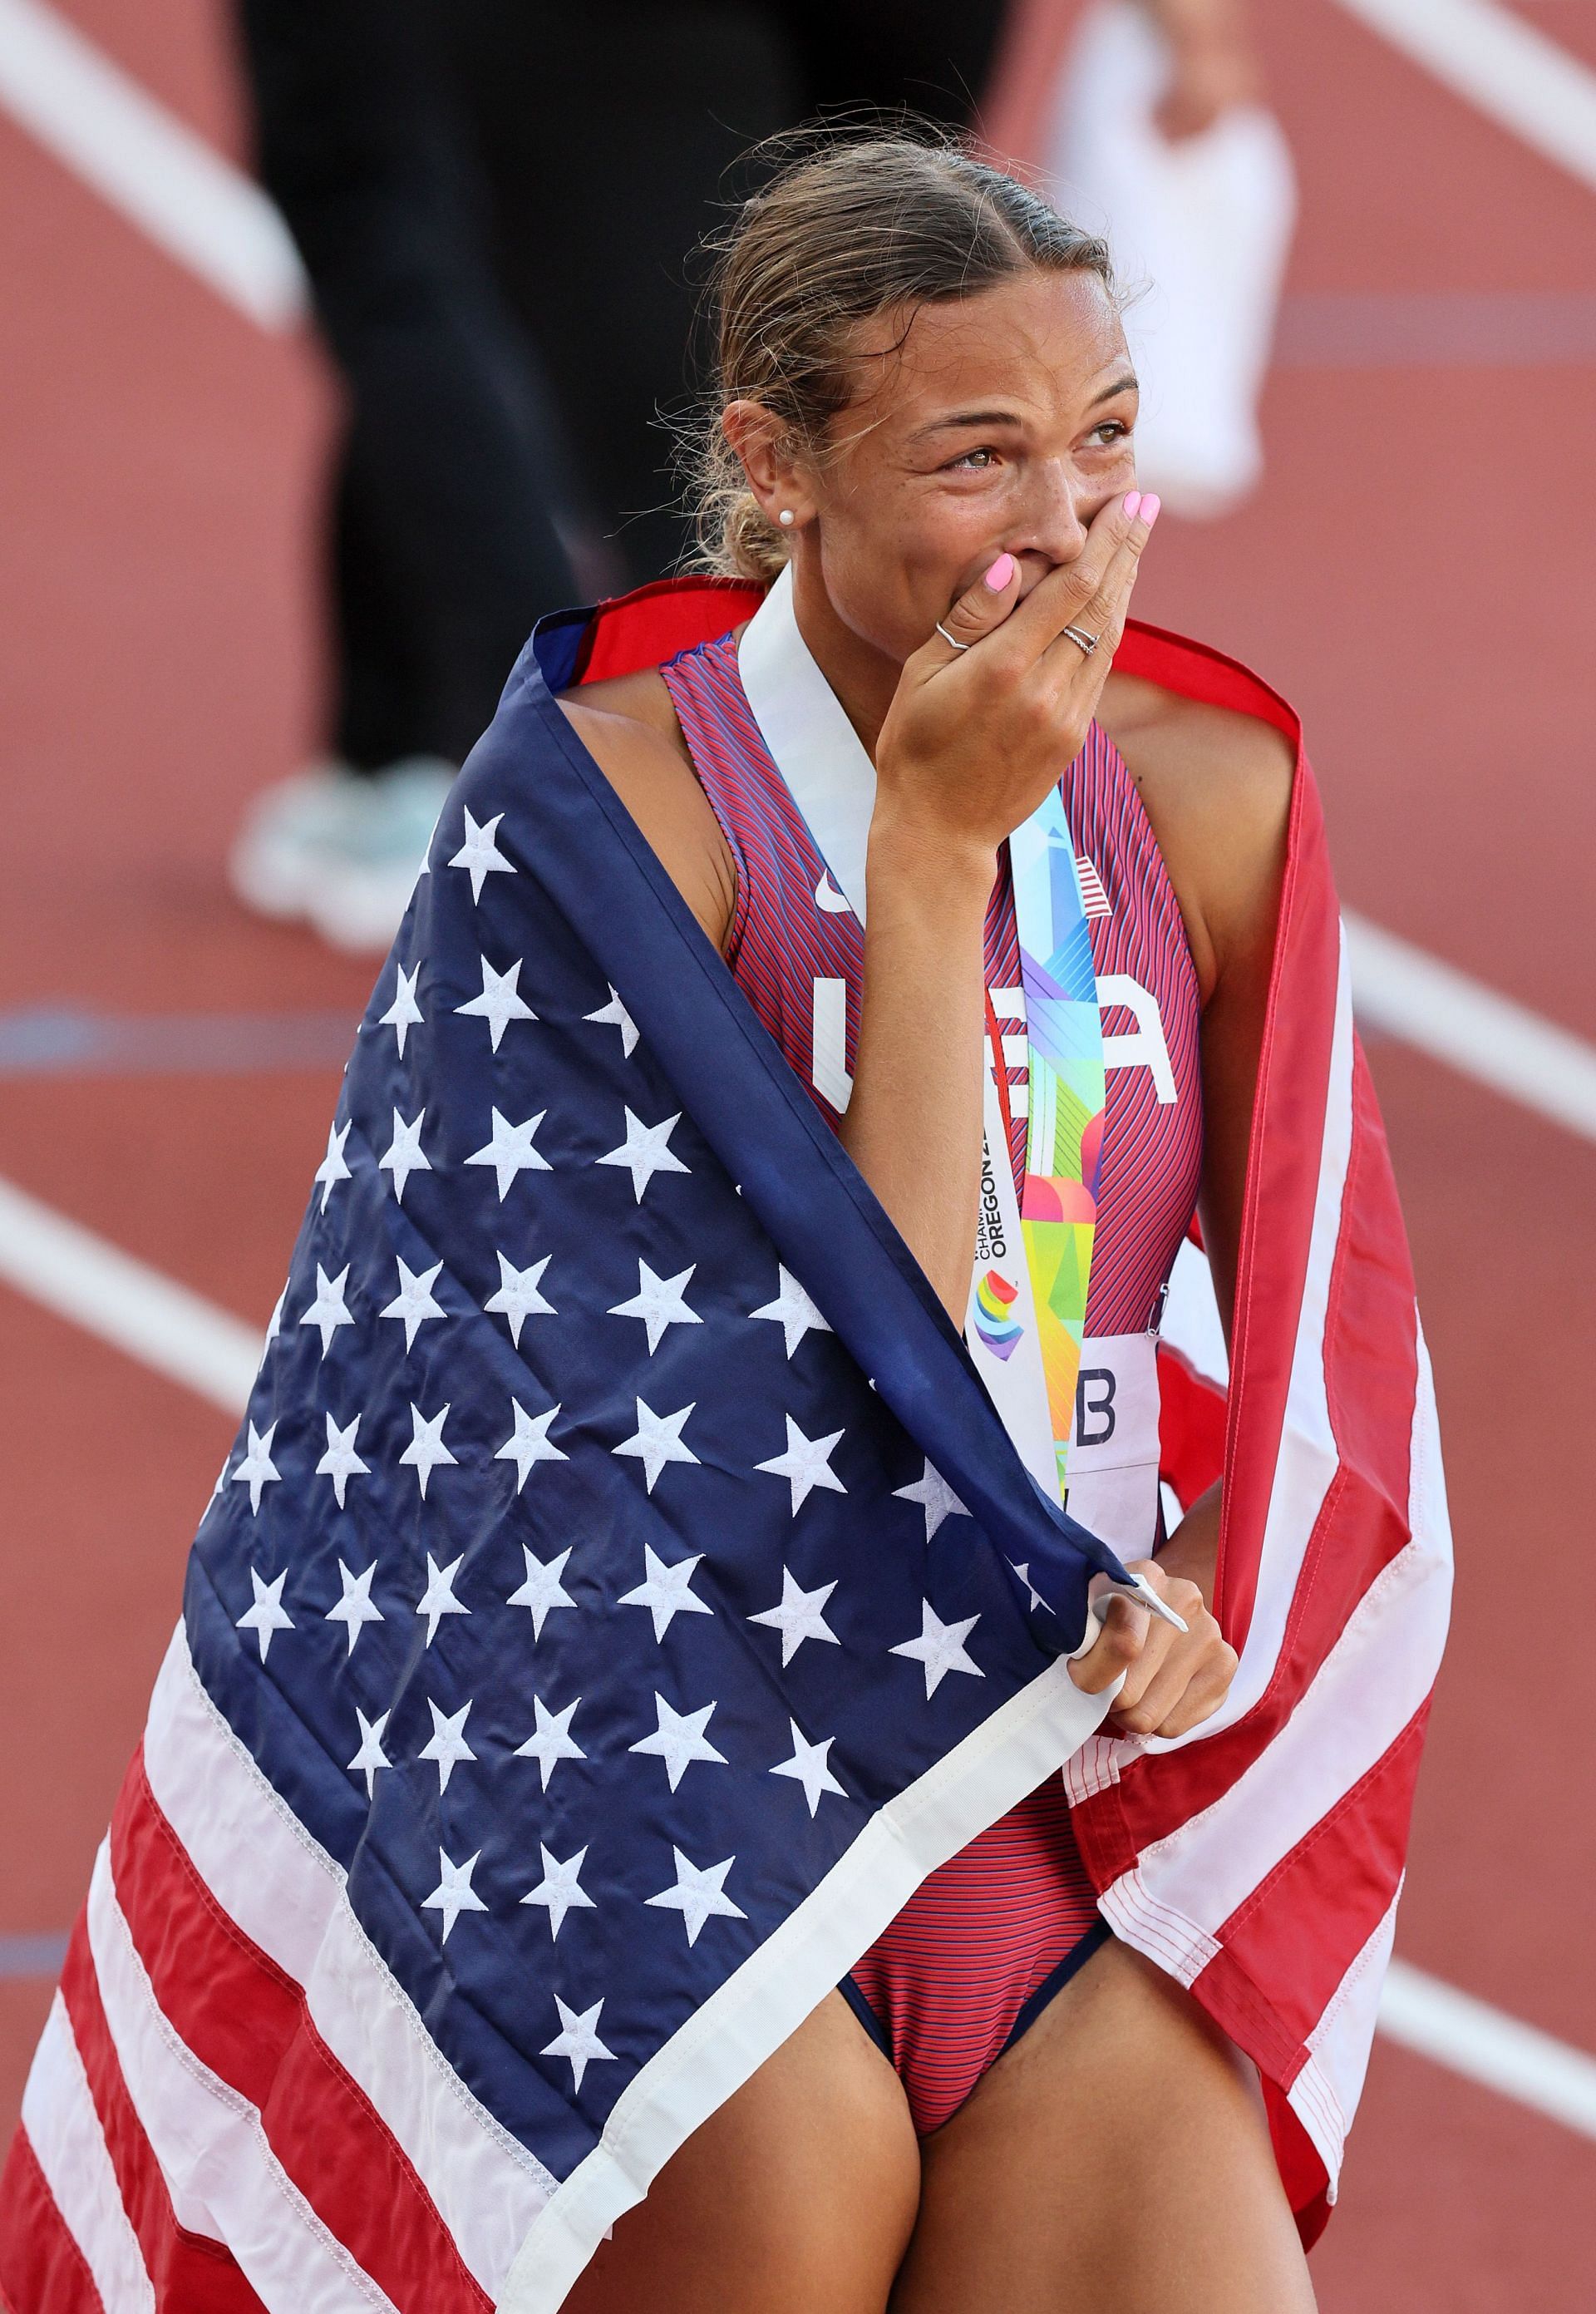
[[[333,745],[460,761],[541,611],[689,546],[666,419],[703,379],[692,250],[749,190],[738,153],[817,109],[967,118],[1002,0],[238,16],[261,180],[347,386]]]

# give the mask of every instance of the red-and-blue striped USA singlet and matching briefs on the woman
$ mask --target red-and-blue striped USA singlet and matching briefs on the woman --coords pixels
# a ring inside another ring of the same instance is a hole
[[[828,1095],[847,1101],[840,1064],[851,1081],[863,926],[830,884],[766,750],[736,641],[699,643],[662,676],[736,863],[726,963],[835,1129],[842,1111]],[[1157,1324],[1191,1222],[1203,1159],[1200,997],[1136,782],[1096,724],[1062,794],[1083,854],[1092,960],[1099,981],[1117,974],[1115,993],[1129,1000],[1103,1004],[1108,1111],[1087,1300],[1087,1337],[1101,1337]],[[988,907],[985,967],[992,990],[1020,986],[1006,847]],[[833,1051],[837,1025],[842,1055]],[[999,1032],[1018,1025],[999,1014]],[[1006,1074],[1018,1095],[1022,1067]],[[1018,1182],[1022,1095],[1011,1106],[1020,1111],[1008,1152]],[[842,1985],[893,2059],[921,2136],[958,2110],[1103,1937],[1057,1775],[923,1881]]]

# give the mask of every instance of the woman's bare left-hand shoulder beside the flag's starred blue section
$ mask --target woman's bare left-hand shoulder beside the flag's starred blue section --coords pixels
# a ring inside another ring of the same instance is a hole
[[[659,669],[585,683],[564,692],[560,708],[687,907],[724,951],[738,877]]]

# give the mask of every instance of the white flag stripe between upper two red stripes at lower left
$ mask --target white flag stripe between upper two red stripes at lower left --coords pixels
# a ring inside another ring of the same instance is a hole
[[[335,2242],[266,2143],[259,2110],[229,2090],[155,1999],[111,1884],[102,1842],[88,1884],[88,1944],[99,1999],[134,2113],[180,2226],[227,2242],[268,2314],[398,2314],[386,2291]]]

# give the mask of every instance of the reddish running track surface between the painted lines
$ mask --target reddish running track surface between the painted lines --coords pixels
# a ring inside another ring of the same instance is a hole
[[[1589,0],[1520,14],[1596,62]],[[236,150],[213,0],[69,16]],[[1591,299],[1591,190],[1335,0],[1258,16],[1302,178],[1295,294]],[[317,359],[2,113],[0,275],[0,1023],[354,1023],[370,967],[250,921],[222,884],[245,796],[315,740]],[[1265,488],[1221,525],[1166,523],[1138,609],[1302,706],[1351,907],[1596,1041],[1596,363],[1490,352],[1281,366]],[[1399,1953],[1596,2050],[1596,1145],[1404,1044],[1372,1057],[1460,1550]],[[335,1083],[335,1064],[12,1071],[0,1178],[264,1324]],[[0,1939],[51,1937],[81,1902],[229,1435],[0,1289]],[[19,1967],[0,1978],[7,2134],[51,1981]],[[1381,2041],[1314,2272],[1330,2314],[1584,2314],[1596,2143]]]

